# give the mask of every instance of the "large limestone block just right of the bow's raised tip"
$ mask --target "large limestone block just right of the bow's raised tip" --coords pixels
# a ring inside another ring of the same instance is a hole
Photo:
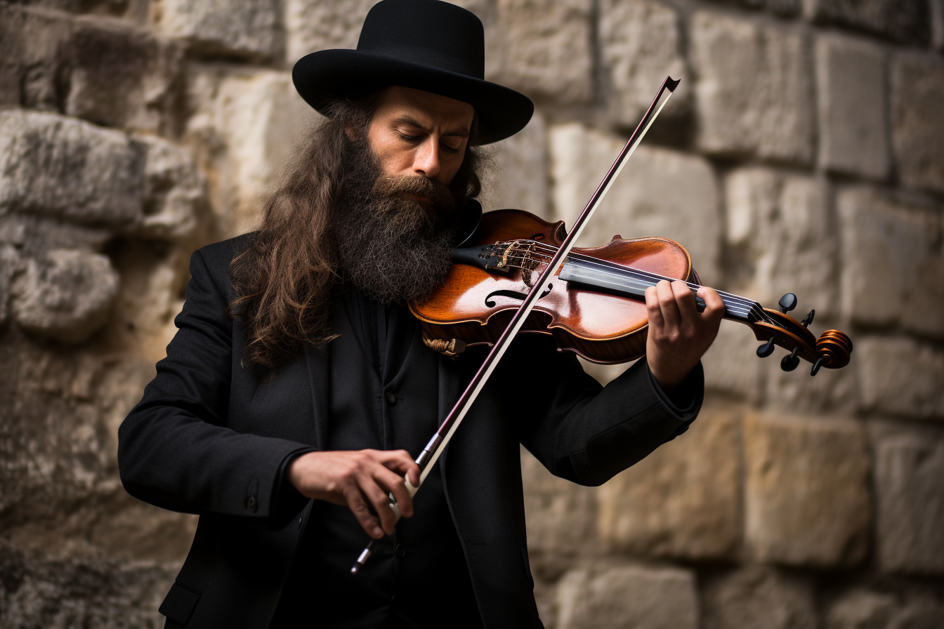
[[[810,164],[813,72],[801,33],[700,11],[690,37],[699,148]]]

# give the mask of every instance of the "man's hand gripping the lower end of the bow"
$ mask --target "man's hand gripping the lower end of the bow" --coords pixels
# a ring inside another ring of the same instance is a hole
[[[394,494],[404,518],[413,515],[413,498],[404,476],[419,487],[419,466],[406,450],[310,452],[292,461],[285,472],[306,498],[350,507],[363,530],[375,539],[394,532],[396,516],[387,493]],[[379,520],[371,514],[368,501]]]

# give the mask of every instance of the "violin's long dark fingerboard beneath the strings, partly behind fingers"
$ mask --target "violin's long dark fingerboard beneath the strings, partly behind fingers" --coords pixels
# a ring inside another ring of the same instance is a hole
[[[613,262],[593,257],[570,256],[561,267],[560,279],[568,284],[577,284],[588,289],[608,292],[632,299],[645,300],[646,289],[655,286],[661,280],[673,281],[656,273],[649,273],[624,267]],[[697,293],[700,285],[686,282],[689,290]],[[730,292],[717,291],[724,302],[724,318],[740,323],[754,323],[761,318],[763,308],[757,302],[740,297]],[[705,308],[704,300],[697,294],[696,307],[701,312]]]

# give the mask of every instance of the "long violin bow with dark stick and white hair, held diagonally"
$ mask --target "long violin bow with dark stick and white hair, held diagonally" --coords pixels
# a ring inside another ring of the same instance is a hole
[[[623,166],[626,164],[627,157],[630,157],[632,152],[636,150],[639,142],[643,140],[646,132],[649,131],[649,126],[651,126],[655,121],[656,116],[659,115],[659,112],[662,111],[662,108],[666,107],[669,97],[672,95],[672,92],[675,91],[675,88],[678,87],[678,85],[679,81],[673,80],[671,76],[666,76],[666,80],[663,81],[662,87],[659,88],[659,92],[652,100],[652,104],[649,105],[649,109],[646,110],[646,114],[643,116],[642,121],[640,121],[640,123],[636,126],[635,131],[632,132],[632,136],[630,136],[629,141],[626,142],[623,150],[619,152],[619,155],[613,162],[613,166],[610,167],[610,170],[603,177],[603,180],[599,183],[599,186],[593,193],[593,196],[590,197],[587,205],[583,207],[581,215],[577,217],[577,221],[574,222],[573,228],[565,238],[564,243],[557,250],[557,253],[551,257],[548,265],[544,269],[544,272],[541,273],[541,276],[531,286],[531,290],[528,291],[528,296],[525,297],[524,301],[521,303],[521,306],[518,306],[512,321],[508,323],[505,331],[502,332],[500,337],[498,337],[495,345],[492,346],[492,350],[488,353],[488,356],[485,356],[485,360],[482,361],[479,371],[476,372],[471,382],[469,382],[468,386],[465,388],[463,394],[459,397],[459,400],[456,402],[455,406],[453,406],[452,410],[449,411],[449,414],[446,416],[446,420],[443,421],[439,427],[439,430],[436,431],[436,434],[432,436],[430,442],[426,444],[425,448],[423,448],[423,452],[416,457],[416,465],[418,465],[420,469],[420,485],[422,485],[423,481],[426,480],[427,475],[432,469],[432,465],[436,462],[439,456],[443,454],[443,451],[446,449],[446,446],[449,443],[449,439],[452,439],[452,436],[455,434],[459,424],[463,422],[469,407],[472,406],[472,403],[475,402],[476,398],[479,396],[482,387],[484,387],[485,383],[488,381],[488,377],[492,375],[492,372],[495,371],[498,361],[501,360],[501,356],[504,356],[505,351],[508,350],[508,346],[511,344],[515,335],[517,335],[518,330],[521,329],[521,326],[525,323],[528,315],[531,314],[531,310],[534,308],[534,305],[537,303],[538,296],[541,294],[541,289],[545,286],[548,280],[553,277],[554,273],[564,261],[565,257],[570,254],[570,250],[574,248],[578,237],[580,237],[581,232],[583,231],[583,227],[590,220],[590,217],[593,216],[593,213],[597,211],[597,207],[599,207],[603,197],[606,196],[606,193],[610,190],[610,187],[613,186],[616,176],[621,170],[623,170]],[[418,486],[413,487],[413,484],[410,483],[410,479],[407,479],[406,486],[407,491],[411,496],[414,496],[416,491],[419,490]],[[400,510],[396,506],[394,495],[392,493],[389,494],[389,498],[390,508],[394,511],[396,521],[399,521]],[[361,568],[367,562],[367,558],[373,552],[374,543],[376,541],[376,539],[371,539],[370,543],[367,544],[367,547],[363,549],[361,555],[357,558],[357,562],[351,568],[351,574],[357,574],[361,571]]]

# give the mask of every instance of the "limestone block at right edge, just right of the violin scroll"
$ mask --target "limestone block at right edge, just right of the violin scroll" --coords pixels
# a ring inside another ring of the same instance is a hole
[[[944,418],[944,352],[914,339],[857,339],[853,360],[862,410]]]

